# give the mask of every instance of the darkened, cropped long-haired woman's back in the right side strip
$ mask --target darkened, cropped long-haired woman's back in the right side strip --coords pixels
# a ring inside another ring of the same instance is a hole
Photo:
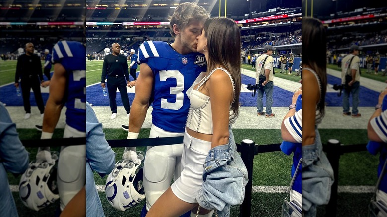
[[[333,169],[323,152],[317,125],[325,114],[326,31],[315,18],[302,19],[302,209],[316,216],[316,206],[327,204]]]

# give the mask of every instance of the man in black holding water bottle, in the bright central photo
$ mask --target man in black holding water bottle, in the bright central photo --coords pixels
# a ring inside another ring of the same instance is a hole
[[[108,79],[108,92],[110,101],[110,110],[112,110],[111,118],[117,116],[116,90],[120,91],[121,100],[124,108],[127,111],[127,116],[130,114],[130,103],[127,94],[127,84],[129,84],[128,62],[125,56],[120,55],[120,44],[117,42],[112,44],[112,54],[105,56],[102,66],[101,87],[105,87],[105,78]]]

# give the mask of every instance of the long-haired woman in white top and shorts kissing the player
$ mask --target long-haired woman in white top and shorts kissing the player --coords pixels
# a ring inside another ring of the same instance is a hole
[[[239,113],[240,30],[232,19],[211,18],[204,23],[204,29],[197,40],[197,51],[205,55],[208,66],[205,76],[194,83],[190,93],[187,92],[191,106],[184,134],[183,171],[152,206],[147,216],[179,216],[189,210],[194,214],[200,214],[200,217],[212,216],[209,210],[201,209],[200,212],[197,210],[200,208],[198,207],[200,201],[211,197],[208,196],[211,195],[210,192],[206,192],[205,196],[202,194],[199,196],[199,192],[205,191],[202,186],[203,172],[207,178],[217,176],[217,186],[227,189],[226,192],[238,191],[242,197],[240,201],[243,201],[247,170],[236,152],[231,131],[231,124],[235,122]],[[234,161],[233,166],[239,168],[239,173],[244,173],[245,176],[238,177],[239,182],[234,182],[239,184],[227,186],[222,177],[238,175],[233,171],[228,171],[227,174],[223,170],[214,171],[216,166],[210,165],[213,160],[211,157],[215,156],[216,159],[218,155],[216,150],[220,148],[228,151],[227,156],[231,156],[228,162]],[[207,179],[205,184],[212,181]],[[214,200],[227,201],[225,198]],[[208,206],[204,208],[208,209]]]

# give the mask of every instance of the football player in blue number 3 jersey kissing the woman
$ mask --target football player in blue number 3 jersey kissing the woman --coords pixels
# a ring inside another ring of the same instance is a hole
[[[206,71],[203,54],[198,53],[196,37],[209,18],[207,11],[195,3],[176,7],[170,19],[172,44],[159,41],[144,42],[139,48],[140,71],[136,95],[129,118],[128,139],[136,139],[153,103],[150,137],[183,136],[190,101],[186,94],[201,72]],[[183,144],[149,146],[144,162],[143,183],[145,216],[155,201],[168,189],[171,180],[181,173]],[[123,162],[140,163],[135,147],[125,148]]]

